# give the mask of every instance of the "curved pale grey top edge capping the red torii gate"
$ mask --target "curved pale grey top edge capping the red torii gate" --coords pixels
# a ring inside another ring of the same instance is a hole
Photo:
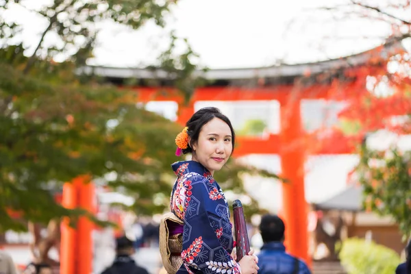
[[[195,74],[209,80],[236,80],[236,79],[256,79],[256,78],[279,78],[279,77],[298,77],[301,75],[316,75],[329,70],[347,69],[362,64],[369,60],[386,60],[403,50],[401,41],[393,40],[384,45],[369,51],[364,51],[345,58],[325,60],[305,64],[279,64],[275,66],[265,66],[258,68],[245,69],[210,69],[208,71],[196,71]],[[86,74],[95,73],[101,77],[117,79],[171,79],[162,69],[142,69],[142,68],[121,68],[109,66],[85,66],[81,72]]]

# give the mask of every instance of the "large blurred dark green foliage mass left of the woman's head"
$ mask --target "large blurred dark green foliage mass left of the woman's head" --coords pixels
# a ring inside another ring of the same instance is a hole
[[[164,136],[175,136],[179,127],[137,108],[135,91],[59,85],[42,73],[32,77],[10,64],[0,67],[9,76],[0,76],[1,98],[12,98],[0,113],[0,229],[19,224],[4,210],[42,223],[84,214],[62,208],[52,194],[82,174],[97,179],[114,172],[117,179],[110,184],[131,194],[145,189],[150,199],[155,191],[171,189],[160,175],[171,173],[175,145]],[[146,180],[158,186],[142,184]],[[144,187],[135,189],[139,184]]]

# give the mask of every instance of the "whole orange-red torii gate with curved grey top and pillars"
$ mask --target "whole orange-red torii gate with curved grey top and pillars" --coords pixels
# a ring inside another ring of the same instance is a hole
[[[402,47],[400,47],[400,51]],[[304,191],[304,158],[307,148],[302,142],[305,134],[301,128],[300,103],[303,99],[332,99],[347,100],[356,97],[362,92],[367,92],[365,87],[366,62],[372,62],[375,70],[384,66],[381,62],[381,54],[394,55],[399,52],[397,42],[387,43],[365,53],[353,55],[346,60],[331,60],[327,67],[323,64],[314,64],[311,73],[322,73],[329,69],[332,71],[344,67],[342,62],[349,63],[345,66],[345,73],[351,79],[347,82],[334,81],[330,84],[312,84],[310,86],[296,86],[295,84],[241,88],[241,87],[203,87],[197,88],[190,102],[183,104],[183,98],[176,90],[171,88],[136,88],[138,101],[175,101],[182,107],[178,110],[177,123],[184,125],[194,113],[196,101],[278,101],[280,104],[281,132],[278,135],[271,134],[268,138],[238,138],[234,157],[251,153],[279,154],[282,162],[282,177],[288,179],[288,184],[283,184],[283,217],[286,223],[286,246],[288,251],[310,263],[308,256],[308,232],[307,232],[307,205]],[[377,58],[376,58],[377,57]],[[373,60],[374,59],[374,60]],[[385,59],[386,60],[386,59]],[[342,66],[340,66],[342,65]],[[303,65],[303,67],[308,66]],[[284,68],[266,68],[265,74],[277,73],[277,77]],[[290,69],[289,67],[286,69]],[[309,68],[308,68],[309,69]],[[94,68],[97,75],[114,77],[136,77],[136,71],[129,69]],[[122,71],[123,70],[123,71]],[[277,71],[276,71],[277,70]],[[90,72],[91,69],[85,70]],[[304,71],[303,75],[310,71]],[[143,71],[148,75],[149,72]],[[244,75],[244,72],[240,72]],[[250,73],[249,73],[250,74]],[[253,74],[253,72],[251,72]],[[356,77],[361,75],[362,77]],[[290,76],[290,74],[288,75]],[[296,76],[296,75],[295,75]],[[300,75],[301,76],[301,75]],[[251,76],[254,77],[254,76]],[[332,77],[332,75],[328,75]],[[357,141],[357,142],[356,142]],[[319,141],[318,141],[319,142]],[[318,143],[317,142],[317,143]],[[340,134],[321,139],[321,144],[316,144],[315,149],[310,149],[311,155],[353,153],[358,140],[345,138]],[[92,203],[94,189],[92,184],[85,184],[82,177],[76,178],[72,184],[65,184],[62,204],[74,208],[81,206],[93,212]],[[62,224],[62,256],[60,258],[60,274],[89,274],[92,269],[92,224],[82,218],[76,230],[70,229],[67,223]]]

